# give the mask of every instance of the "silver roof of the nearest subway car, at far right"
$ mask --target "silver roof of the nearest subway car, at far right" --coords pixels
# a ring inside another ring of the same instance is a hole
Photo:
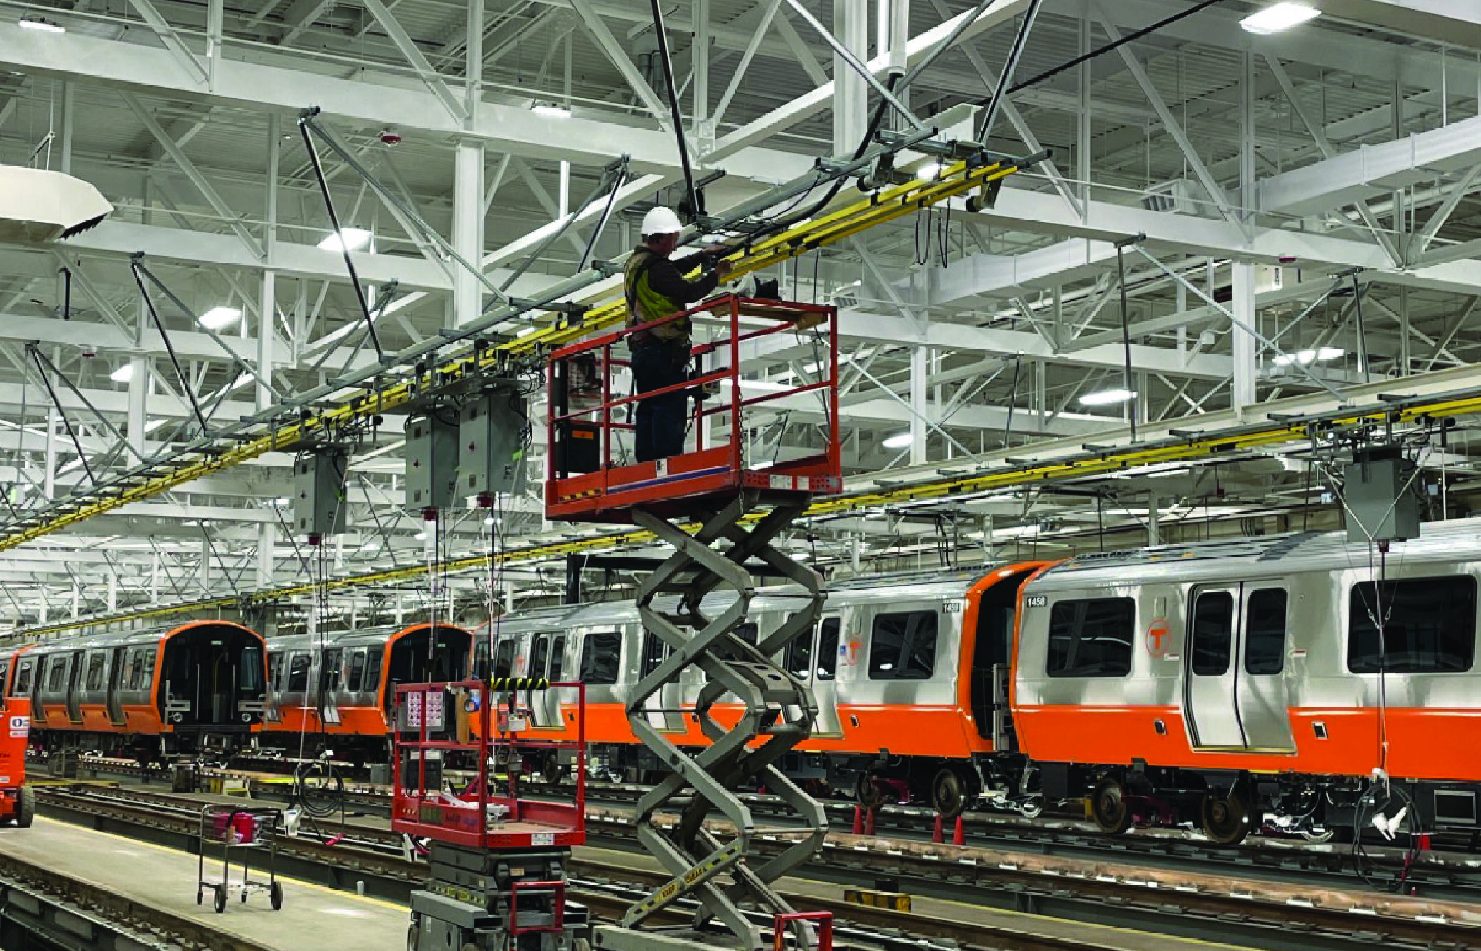
[[[1192,544],[1077,555],[1046,569],[1035,589],[1091,583],[1240,580],[1299,571],[1377,568],[1377,550],[1346,532],[1290,532]],[[1419,537],[1389,544],[1388,569],[1481,561],[1481,519],[1425,522]],[[1130,578],[1129,578],[1130,575]]]

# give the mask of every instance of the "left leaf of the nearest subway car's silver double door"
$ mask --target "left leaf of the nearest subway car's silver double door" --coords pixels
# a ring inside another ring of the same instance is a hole
[[[1192,590],[1183,700],[1195,747],[1246,745],[1238,705],[1238,584]]]

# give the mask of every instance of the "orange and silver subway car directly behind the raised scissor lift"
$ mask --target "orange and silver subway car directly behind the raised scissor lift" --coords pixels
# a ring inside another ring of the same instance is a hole
[[[957,815],[982,797],[1022,808],[1023,769],[995,756],[1012,745],[1009,655],[1019,586],[1044,562],[991,569],[859,578],[829,587],[819,623],[779,658],[818,700],[813,735],[783,768],[813,788],[865,803],[930,802]],[[786,587],[761,589],[738,633],[757,642],[803,605]],[[724,602],[712,596],[714,617]],[[474,676],[579,679],[586,685],[592,762],[612,778],[643,779],[656,763],[632,737],[625,698],[666,657],[632,602],[536,608],[477,633]],[[650,701],[650,723],[680,745],[706,740],[692,714],[703,671],[689,669]],[[532,735],[569,740],[572,688],[517,695]],[[717,705],[724,720],[724,701]],[[526,757],[529,763],[530,759]],[[532,763],[558,775],[557,763]]]

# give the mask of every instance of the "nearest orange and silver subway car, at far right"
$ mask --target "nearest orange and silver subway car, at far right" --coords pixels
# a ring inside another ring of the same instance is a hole
[[[1075,558],[1023,586],[1012,729],[1100,828],[1481,828],[1481,524]],[[1374,771],[1380,771],[1374,782]]]

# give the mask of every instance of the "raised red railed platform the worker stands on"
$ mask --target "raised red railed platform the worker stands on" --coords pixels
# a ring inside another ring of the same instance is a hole
[[[629,365],[632,334],[681,318],[695,324],[696,336],[714,334],[690,348],[690,379],[644,393],[615,389],[615,377]],[[843,491],[837,337],[837,308],[723,294],[555,351],[549,359],[546,518],[626,524],[634,507],[665,518],[687,515],[696,503],[733,497],[739,490],[764,495]],[[758,353],[791,348],[804,356],[795,362],[810,367],[794,382],[742,379],[748,359],[758,365]],[[755,392],[761,386],[766,389]],[[637,429],[628,417],[637,404],[680,390],[705,393],[689,413],[686,451],[658,461],[628,458]],[[822,426],[813,430],[818,445],[810,447],[816,451],[792,458],[761,458],[748,451],[746,426],[772,410],[822,414]],[[711,426],[723,430],[721,438],[706,432]]]

